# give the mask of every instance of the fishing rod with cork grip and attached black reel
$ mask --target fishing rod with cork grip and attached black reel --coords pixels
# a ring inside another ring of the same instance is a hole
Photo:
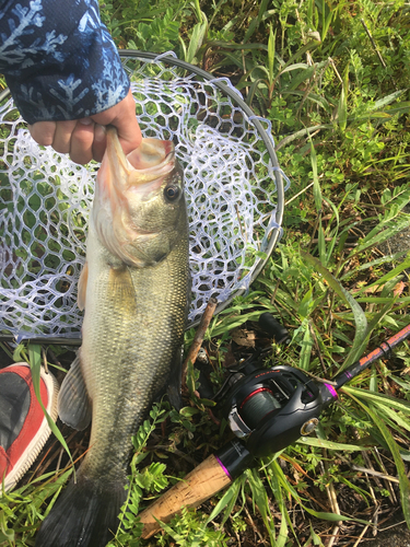
[[[277,341],[285,340],[286,330],[271,314],[262,314],[259,323]],[[236,439],[139,514],[142,537],[149,538],[161,529],[159,520],[168,522],[183,507],[198,507],[229,486],[251,467],[254,458],[272,455],[312,433],[321,412],[337,400],[337,392],[371,363],[391,354],[393,348],[409,336],[410,324],[328,382],[289,365],[261,369],[255,363],[260,356],[251,356],[231,369],[216,396],[224,399],[222,415]]]

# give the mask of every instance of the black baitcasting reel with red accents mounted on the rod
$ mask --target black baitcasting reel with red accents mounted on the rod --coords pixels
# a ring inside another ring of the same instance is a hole
[[[276,340],[288,331],[269,313],[260,325]],[[233,433],[246,441],[254,457],[266,456],[312,433],[324,406],[320,385],[304,372],[286,365],[261,369],[259,354],[235,369],[216,394],[222,416]]]

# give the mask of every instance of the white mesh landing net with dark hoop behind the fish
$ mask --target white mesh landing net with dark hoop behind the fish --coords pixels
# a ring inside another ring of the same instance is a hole
[[[174,54],[126,51],[144,137],[173,140],[185,171],[195,324],[246,291],[280,235],[283,184],[269,121],[229,80]],[[31,138],[0,97],[0,334],[79,338],[77,282],[97,163],[80,166]]]

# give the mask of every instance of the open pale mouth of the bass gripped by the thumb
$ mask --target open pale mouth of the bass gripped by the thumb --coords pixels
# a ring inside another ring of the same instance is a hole
[[[161,183],[175,166],[175,147],[166,140],[142,139],[140,147],[126,155],[117,129],[108,126],[106,159],[113,178],[127,181],[127,187],[153,181]]]

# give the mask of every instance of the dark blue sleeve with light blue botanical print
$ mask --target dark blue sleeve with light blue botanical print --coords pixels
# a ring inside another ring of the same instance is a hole
[[[97,114],[129,90],[97,0],[0,0],[0,72],[28,124]]]

